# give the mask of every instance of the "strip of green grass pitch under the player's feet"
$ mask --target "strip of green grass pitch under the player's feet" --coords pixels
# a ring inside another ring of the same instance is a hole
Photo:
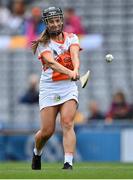
[[[1,162],[0,179],[133,179],[131,163],[75,163],[72,171],[61,167],[43,163],[41,171],[33,171],[29,162]]]

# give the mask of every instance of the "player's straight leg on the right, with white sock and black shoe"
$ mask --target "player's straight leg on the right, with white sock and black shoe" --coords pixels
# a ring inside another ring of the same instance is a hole
[[[63,130],[64,167],[72,169],[73,154],[75,151],[76,136],[74,132],[74,116],[77,109],[75,100],[69,100],[61,105],[61,126]]]

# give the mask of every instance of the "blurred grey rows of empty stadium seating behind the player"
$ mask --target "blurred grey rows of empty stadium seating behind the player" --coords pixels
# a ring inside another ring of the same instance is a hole
[[[82,16],[87,33],[104,37],[102,47],[81,52],[81,74],[90,69],[91,78],[87,88],[79,87],[79,109],[87,115],[89,100],[96,99],[102,111],[107,111],[112,94],[119,89],[133,102],[133,1],[61,0],[59,4],[58,0],[38,0],[32,6],[45,8],[57,4],[62,8],[74,7]],[[107,53],[114,56],[110,64],[105,62]],[[18,98],[27,87],[28,75],[33,72],[40,75],[40,63],[26,49],[1,50],[0,57],[0,118],[10,123],[36,123],[38,107],[27,108],[18,103]]]

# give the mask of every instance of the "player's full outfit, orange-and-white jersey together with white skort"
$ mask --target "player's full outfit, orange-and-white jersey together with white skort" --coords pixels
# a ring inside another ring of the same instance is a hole
[[[38,58],[43,65],[39,86],[40,110],[45,107],[62,104],[70,99],[74,99],[78,103],[78,88],[75,81],[71,81],[67,75],[47,67],[42,59],[42,54],[52,53],[55,61],[66,68],[73,69],[70,47],[79,46],[79,40],[75,34],[64,32],[64,37],[64,42],[50,40],[47,45],[39,43],[37,48]]]

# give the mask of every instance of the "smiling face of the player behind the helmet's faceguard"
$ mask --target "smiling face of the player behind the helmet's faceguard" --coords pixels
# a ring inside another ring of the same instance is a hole
[[[47,26],[50,31],[61,31],[63,26],[62,18],[60,16],[56,16],[48,19]]]

